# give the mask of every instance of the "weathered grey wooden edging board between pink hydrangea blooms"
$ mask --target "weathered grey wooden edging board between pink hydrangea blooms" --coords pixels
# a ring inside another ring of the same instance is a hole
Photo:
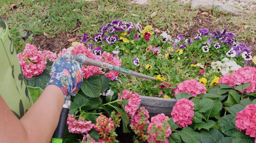
[[[140,105],[148,110],[150,117],[163,113],[165,116],[171,117],[172,108],[177,102],[176,99],[159,98],[149,96],[139,96]]]

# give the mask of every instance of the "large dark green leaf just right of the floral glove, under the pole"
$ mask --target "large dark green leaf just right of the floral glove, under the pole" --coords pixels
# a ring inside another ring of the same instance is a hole
[[[84,79],[81,89],[83,93],[89,97],[99,97],[101,87],[101,75],[97,74],[88,79]]]

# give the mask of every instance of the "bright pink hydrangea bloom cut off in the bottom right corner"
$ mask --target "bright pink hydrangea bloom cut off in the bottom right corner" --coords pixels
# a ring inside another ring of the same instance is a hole
[[[250,135],[250,137],[256,137],[256,104],[247,105],[236,115],[236,128],[245,131],[245,134]]]

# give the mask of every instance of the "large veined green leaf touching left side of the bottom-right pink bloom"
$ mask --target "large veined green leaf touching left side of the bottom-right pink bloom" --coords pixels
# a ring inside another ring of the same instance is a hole
[[[219,120],[219,125],[221,127],[220,131],[227,136],[232,136],[235,131],[237,131],[235,126],[235,116],[226,115]]]

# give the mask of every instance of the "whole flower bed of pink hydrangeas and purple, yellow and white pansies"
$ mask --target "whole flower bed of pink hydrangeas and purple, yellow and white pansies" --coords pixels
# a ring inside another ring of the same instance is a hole
[[[67,142],[117,142],[116,128],[134,132],[134,142],[254,141],[256,69],[250,61],[256,57],[235,34],[199,29],[192,38],[173,39],[150,25],[116,20],[101,27],[93,42],[87,36],[57,55],[27,44],[18,57],[28,85],[44,89],[52,61],[66,51],[156,81],[83,65]]]

